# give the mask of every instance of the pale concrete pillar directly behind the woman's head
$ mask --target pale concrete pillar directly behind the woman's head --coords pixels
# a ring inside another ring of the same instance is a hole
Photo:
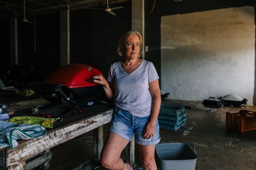
[[[140,58],[145,59],[145,16],[144,0],[132,0],[132,30],[139,31],[142,35]]]

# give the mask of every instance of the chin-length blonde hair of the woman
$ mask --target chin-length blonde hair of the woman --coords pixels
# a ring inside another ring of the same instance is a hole
[[[142,45],[141,34],[138,31],[132,31],[132,30],[127,31],[126,33],[124,33],[124,35],[122,35],[122,37],[120,38],[119,43],[118,43],[117,54],[119,56],[124,56],[122,48],[128,42],[129,38],[132,35],[137,35],[139,37],[139,39],[140,39],[140,47],[141,47],[141,45]],[[140,52],[139,52],[139,55],[140,55]]]

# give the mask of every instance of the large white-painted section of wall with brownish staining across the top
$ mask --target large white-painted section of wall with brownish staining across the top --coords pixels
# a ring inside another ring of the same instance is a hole
[[[171,99],[236,94],[253,105],[254,61],[253,7],[162,17],[161,83]]]

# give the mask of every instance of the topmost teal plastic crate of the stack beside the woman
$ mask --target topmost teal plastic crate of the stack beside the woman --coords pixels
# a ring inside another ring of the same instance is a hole
[[[179,115],[184,111],[185,111],[184,105],[162,103],[159,113],[165,113],[165,114],[174,113],[176,115]]]

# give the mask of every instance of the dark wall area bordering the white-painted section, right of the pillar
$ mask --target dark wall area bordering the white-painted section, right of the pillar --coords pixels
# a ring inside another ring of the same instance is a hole
[[[145,2],[145,46],[149,46],[145,53],[145,59],[152,61],[161,77],[161,17],[174,14],[186,14],[202,12],[214,9],[230,7],[255,6],[254,0],[232,1],[232,0],[196,0],[196,1],[174,1],[161,0]],[[152,10],[153,9],[153,10]],[[152,12],[151,12],[152,11]],[[161,78],[160,78],[161,79]],[[161,80],[159,81],[161,82]],[[160,84],[161,87],[161,84]]]

